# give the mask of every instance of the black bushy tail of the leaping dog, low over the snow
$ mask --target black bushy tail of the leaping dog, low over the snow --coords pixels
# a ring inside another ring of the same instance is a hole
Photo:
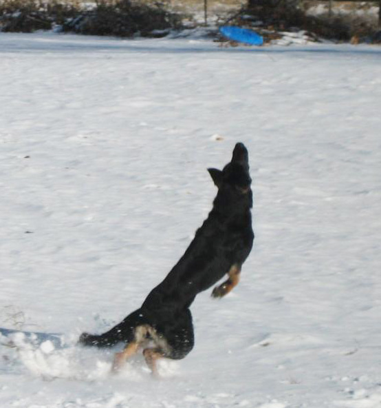
[[[140,309],[129,314],[122,322],[103,334],[83,333],[78,343],[84,346],[99,348],[113,347],[118,343],[130,343],[135,338],[135,328],[144,324],[144,316]]]

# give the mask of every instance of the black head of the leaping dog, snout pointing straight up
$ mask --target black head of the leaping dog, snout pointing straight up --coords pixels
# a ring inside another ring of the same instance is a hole
[[[208,169],[210,176],[219,192],[235,198],[235,200],[248,197],[251,203],[251,178],[249,174],[249,154],[243,143],[237,143],[233,156],[223,170]]]

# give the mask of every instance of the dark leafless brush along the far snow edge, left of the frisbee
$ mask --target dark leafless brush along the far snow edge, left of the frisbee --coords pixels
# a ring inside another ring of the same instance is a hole
[[[117,37],[160,37],[182,26],[182,17],[163,3],[131,0],[99,1],[94,8],[80,3],[42,0],[0,0],[0,30],[63,32]]]

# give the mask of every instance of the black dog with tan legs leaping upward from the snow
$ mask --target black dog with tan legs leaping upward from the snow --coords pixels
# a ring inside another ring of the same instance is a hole
[[[213,289],[214,298],[226,295],[239,282],[241,266],[254,239],[248,150],[237,143],[232,161],[224,170],[208,172],[218,187],[213,209],[179,262],[152,289],[140,309],[105,334],[80,336],[83,345],[112,347],[125,343],[124,351],[116,354],[113,369],[119,369],[146,340],[153,343],[143,351],[153,374],[158,358],[184,358],[194,345],[189,307],[195,296],[225,274],[228,279]]]

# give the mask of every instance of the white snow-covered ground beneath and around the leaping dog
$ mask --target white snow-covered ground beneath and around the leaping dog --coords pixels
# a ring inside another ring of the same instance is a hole
[[[381,407],[381,49],[0,34],[2,408]],[[255,246],[153,380],[80,349],[135,309],[246,143]],[[1,339],[0,339],[1,340]]]

